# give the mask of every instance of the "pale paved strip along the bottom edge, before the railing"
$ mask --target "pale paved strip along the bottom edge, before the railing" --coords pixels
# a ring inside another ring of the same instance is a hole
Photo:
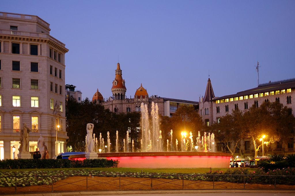
[[[295,195],[295,190],[150,190],[150,191],[83,191],[83,192],[49,192],[49,193],[26,193],[17,196],[74,196],[74,195],[220,195],[218,193],[249,195]],[[6,196],[14,196],[6,195]]]

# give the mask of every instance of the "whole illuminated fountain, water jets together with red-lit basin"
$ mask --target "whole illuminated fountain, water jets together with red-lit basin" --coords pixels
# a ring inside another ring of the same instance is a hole
[[[181,142],[178,144],[176,137],[173,139],[173,130],[170,131],[170,140],[167,140],[167,150],[163,152],[162,132],[159,130],[158,105],[152,102],[151,120],[148,115],[148,105],[141,104],[141,136],[140,150],[134,152],[134,140],[129,137],[118,137],[116,132],[116,153],[109,153],[110,139],[107,134],[107,152],[105,153],[104,138],[99,135],[100,149],[96,148],[99,158],[119,160],[119,167],[135,168],[185,168],[185,167],[228,167],[231,154],[215,153],[214,134],[200,132],[195,136],[192,132],[187,135],[181,132]],[[131,140],[132,139],[132,140]],[[119,152],[118,143],[123,140],[123,152]],[[132,141],[132,142],[131,142]],[[97,143],[97,142],[96,142]],[[175,145],[175,146],[174,146]],[[180,146],[178,146],[180,145]],[[98,146],[98,145],[97,145]],[[129,149],[130,148],[130,149]],[[102,149],[102,150],[101,150]],[[100,153],[101,152],[101,153]]]

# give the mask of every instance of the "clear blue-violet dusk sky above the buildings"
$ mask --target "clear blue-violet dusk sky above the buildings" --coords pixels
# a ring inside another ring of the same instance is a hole
[[[92,99],[112,95],[118,62],[127,97],[199,101],[208,75],[215,96],[295,78],[295,1],[1,1],[37,15],[66,44],[65,83]]]

